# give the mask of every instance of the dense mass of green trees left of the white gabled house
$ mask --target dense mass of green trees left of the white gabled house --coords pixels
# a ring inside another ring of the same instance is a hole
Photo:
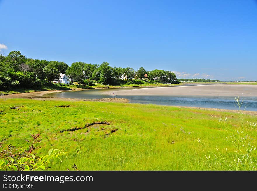
[[[68,67],[64,62],[26,58],[20,51],[0,55],[0,90],[40,89]]]

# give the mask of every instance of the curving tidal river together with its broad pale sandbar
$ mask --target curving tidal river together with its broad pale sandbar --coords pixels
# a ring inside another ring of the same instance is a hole
[[[112,95],[114,93],[114,96]],[[241,110],[257,111],[257,85],[188,84],[173,87],[106,88],[67,91],[48,94],[47,97],[96,99],[126,98],[129,103],[189,106],[220,109],[238,109],[235,97],[243,100]]]

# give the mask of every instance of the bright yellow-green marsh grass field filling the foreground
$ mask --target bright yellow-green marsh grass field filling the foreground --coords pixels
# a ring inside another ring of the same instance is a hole
[[[68,151],[50,170],[74,163],[79,170],[256,170],[236,165],[246,156],[247,163],[256,163],[256,122],[254,115],[152,104],[0,99],[0,137],[8,138],[6,144],[22,150],[25,139],[39,133],[39,155],[50,148]]]

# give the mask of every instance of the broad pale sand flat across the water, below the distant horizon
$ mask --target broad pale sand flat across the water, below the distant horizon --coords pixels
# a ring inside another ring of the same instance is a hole
[[[103,94],[112,94],[112,91]],[[165,95],[165,96],[257,96],[257,85],[196,85],[174,87],[152,87],[134,90],[118,90],[117,95]]]

